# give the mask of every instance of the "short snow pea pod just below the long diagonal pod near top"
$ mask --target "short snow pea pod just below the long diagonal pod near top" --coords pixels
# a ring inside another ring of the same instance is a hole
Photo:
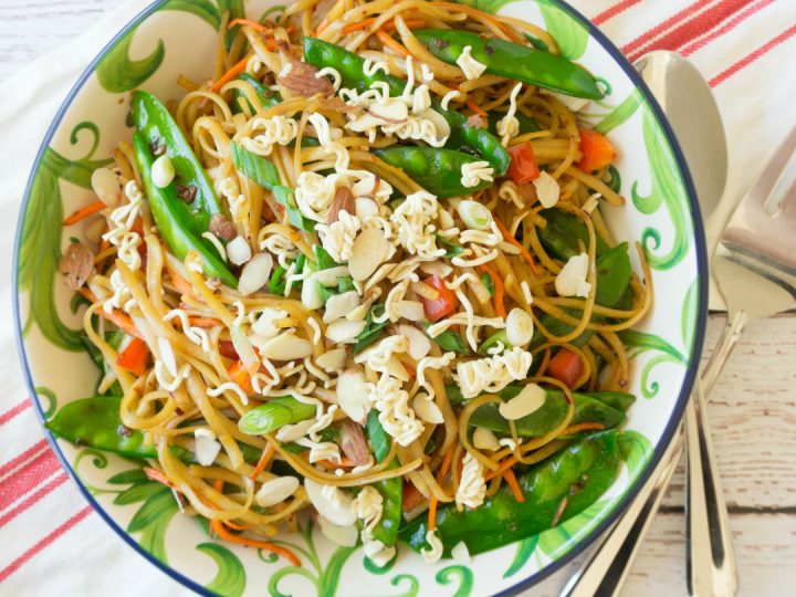
[[[475,187],[462,185],[462,166],[474,164],[479,158],[453,149],[392,146],[371,153],[390,166],[404,170],[409,178],[439,199],[461,197],[492,185],[489,180],[481,180]]]

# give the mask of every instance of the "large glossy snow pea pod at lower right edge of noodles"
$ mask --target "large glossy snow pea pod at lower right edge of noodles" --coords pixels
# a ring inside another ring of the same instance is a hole
[[[504,483],[475,509],[459,512],[453,504],[437,511],[437,536],[443,555],[463,541],[480,554],[536,535],[579,514],[614,483],[620,463],[619,431],[586,436],[517,476],[525,498],[520,503]],[[561,515],[558,511],[566,500]],[[412,549],[427,548],[428,520],[420,516],[400,533]]]

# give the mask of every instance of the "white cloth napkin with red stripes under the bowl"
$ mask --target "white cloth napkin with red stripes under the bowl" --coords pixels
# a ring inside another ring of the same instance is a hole
[[[714,235],[796,121],[793,0],[574,0],[635,60],[653,49],[691,59],[711,82],[727,130],[730,178]],[[55,2],[53,2],[53,6]],[[111,6],[111,4],[107,4]],[[6,81],[0,96],[0,275],[10,281],[14,226],[33,158],[81,71],[145,2],[129,1]],[[28,399],[0,294],[0,595],[185,595],[102,522],[61,470]],[[559,586],[563,579],[553,582]],[[546,584],[546,586],[551,586]]]

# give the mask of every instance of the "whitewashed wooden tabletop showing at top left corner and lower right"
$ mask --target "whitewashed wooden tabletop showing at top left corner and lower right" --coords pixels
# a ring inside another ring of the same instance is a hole
[[[78,35],[114,0],[0,0],[0,81]],[[710,354],[723,314],[711,315]],[[731,513],[741,595],[796,593],[796,312],[757,322],[735,349],[709,407]],[[684,595],[682,474],[653,522],[625,595]],[[130,557],[135,557],[130,553]],[[575,565],[573,565],[575,566]],[[533,590],[555,595],[567,568]]]

